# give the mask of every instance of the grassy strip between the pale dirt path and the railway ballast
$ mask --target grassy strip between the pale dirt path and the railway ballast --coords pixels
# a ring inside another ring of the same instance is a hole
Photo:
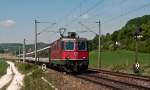
[[[43,73],[37,65],[16,63],[16,66],[21,73],[25,74],[24,86],[21,90],[53,90],[41,79],[41,77],[45,77],[46,74]]]

